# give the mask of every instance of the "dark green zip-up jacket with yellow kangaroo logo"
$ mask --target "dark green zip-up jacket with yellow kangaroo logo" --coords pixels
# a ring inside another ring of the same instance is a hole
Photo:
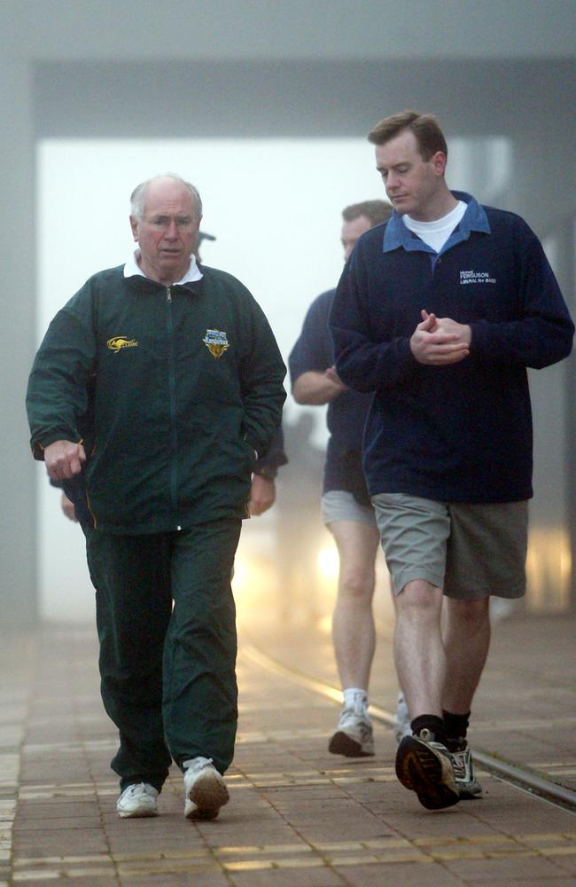
[[[285,367],[230,274],[164,287],[100,271],[58,312],[27,389],[32,451],[86,440],[97,530],[142,534],[247,516],[254,451],[278,427]],[[82,422],[93,387],[93,427]],[[79,424],[82,432],[79,430]]]

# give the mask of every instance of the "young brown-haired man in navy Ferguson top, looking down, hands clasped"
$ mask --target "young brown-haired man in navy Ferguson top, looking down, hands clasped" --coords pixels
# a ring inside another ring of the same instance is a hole
[[[525,592],[526,367],[566,357],[574,326],[528,225],[448,190],[432,115],[394,114],[369,140],[394,213],[358,241],[331,332],[339,378],[375,393],[364,470],[397,595],[394,658],[413,732],[396,773],[437,809],[481,792],[466,731],[489,598]]]

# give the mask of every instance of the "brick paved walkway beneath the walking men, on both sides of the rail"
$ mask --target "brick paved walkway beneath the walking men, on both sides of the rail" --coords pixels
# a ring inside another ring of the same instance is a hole
[[[268,643],[276,656],[333,677],[324,636],[271,627],[257,634],[253,640]],[[479,744],[500,748],[503,738],[511,758],[548,757],[574,773],[573,742],[572,757],[566,747],[576,726],[567,671],[573,632],[562,620],[538,626],[520,619],[495,635],[479,696]],[[385,660],[385,642],[380,655]],[[242,653],[230,805],[214,822],[184,820],[174,770],[157,819],[119,820],[109,769],[115,735],[100,703],[96,663],[91,627],[4,639],[0,887],[576,883],[576,819],[569,812],[486,774],[482,800],[427,812],[395,780],[395,745],[385,727],[376,727],[375,757],[329,755],[336,706]],[[375,671],[375,701],[392,703],[393,689],[389,668]],[[552,718],[558,729],[549,726]]]

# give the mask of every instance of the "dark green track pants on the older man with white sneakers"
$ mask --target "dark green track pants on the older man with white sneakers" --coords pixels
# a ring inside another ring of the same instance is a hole
[[[240,521],[173,533],[89,530],[102,699],[120,731],[121,790],[161,789],[171,760],[230,766],[237,727],[236,611],[230,588]],[[174,602],[174,607],[173,607]]]

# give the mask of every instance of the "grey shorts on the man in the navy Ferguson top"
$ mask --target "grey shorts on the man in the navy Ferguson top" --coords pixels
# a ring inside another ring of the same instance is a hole
[[[378,493],[372,504],[396,594],[413,579],[461,600],[525,593],[526,501],[469,504]]]

